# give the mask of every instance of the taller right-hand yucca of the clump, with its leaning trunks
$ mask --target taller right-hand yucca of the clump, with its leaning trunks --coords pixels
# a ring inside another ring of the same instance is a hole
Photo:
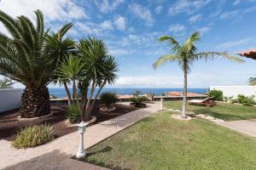
[[[82,108],[84,120],[90,119],[90,113],[95,105],[96,98],[106,84],[113,84],[117,79],[116,72],[119,65],[113,56],[108,54],[106,44],[96,37],[82,39],[78,44],[79,55],[84,63],[84,79],[79,83],[83,93]],[[97,89],[96,89],[97,88]],[[87,99],[87,92],[90,96]],[[92,100],[93,95],[95,99]]]

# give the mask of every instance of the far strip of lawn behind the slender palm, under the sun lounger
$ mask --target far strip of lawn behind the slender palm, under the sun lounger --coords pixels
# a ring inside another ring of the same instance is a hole
[[[182,101],[166,101],[164,107],[181,110]],[[256,118],[256,107],[225,103],[218,103],[210,108],[203,105],[188,105],[188,111],[214,116],[225,121]]]

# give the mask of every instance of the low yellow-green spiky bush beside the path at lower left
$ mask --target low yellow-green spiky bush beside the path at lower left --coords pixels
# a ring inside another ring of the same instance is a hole
[[[52,139],[54,139],[54,133],[51,126],[33,125],[20,130],[13,142],[13,146],[15,148],[29,148],[45,144]]]

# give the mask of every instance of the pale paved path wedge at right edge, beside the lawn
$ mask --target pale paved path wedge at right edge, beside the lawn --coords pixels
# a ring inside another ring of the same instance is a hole
[[[218,122],[219,125],[256,137],[256,119]]]

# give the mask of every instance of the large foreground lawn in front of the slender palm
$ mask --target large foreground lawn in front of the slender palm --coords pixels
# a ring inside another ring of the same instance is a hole
[[[84,161],[111,169],[256,169],[256,140],[170,111],[143,119],[90,148]]]

